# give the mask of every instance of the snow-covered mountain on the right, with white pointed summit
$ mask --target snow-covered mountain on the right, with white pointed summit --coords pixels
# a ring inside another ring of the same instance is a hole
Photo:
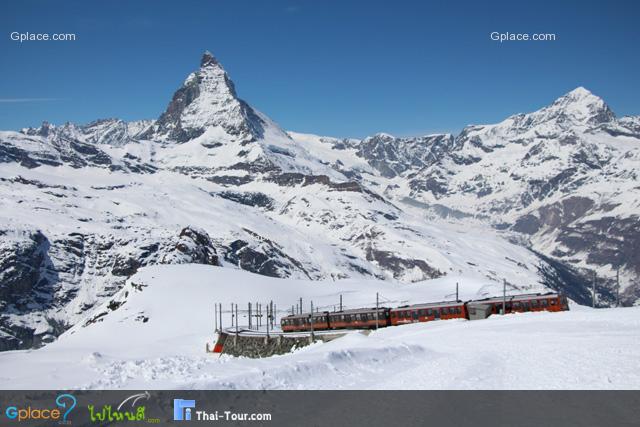
[[[613,286],[619,268],[622,298],[633,302],[640,296],[635,123],[617,120],[602,99],[578,88],[539,111],[467,127],[389,193],[518,232],[587,282],[595,270]]]

